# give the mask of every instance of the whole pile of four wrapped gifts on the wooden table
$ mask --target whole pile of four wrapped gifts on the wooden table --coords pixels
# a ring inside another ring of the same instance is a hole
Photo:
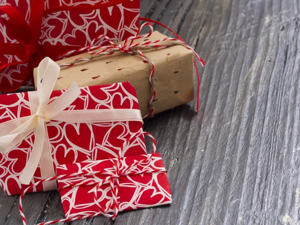
[[[65,221],[171,203],[142,123],[194,98],[196,52],[139,26],[139,0],[0,0],[0,13],[0,90],[36,88],[0,97],[6,194],[58,189]]]

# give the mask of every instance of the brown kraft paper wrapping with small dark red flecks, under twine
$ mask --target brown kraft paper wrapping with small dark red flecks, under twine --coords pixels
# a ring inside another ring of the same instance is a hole
[[[154,31],[148,38],[134,40],[134,42],[139,43],[165,37],[158,31]],[[193,99],[193,52],[191,50],[181,45],[175,45],[163,49],[144,50],[143,54],[155,64],[154,113],[176,107]],[[68,63],[76,58],[89,56],[88,53],[82,53],[59,60],[57,63]],[[149,74],[149,65],[144,63],[140,57],[115,52],[112,55],[103,55],[88,62],[61,68],[54,89],[66,89],[73,82],[82,87],[129,81],[136,89],[141,114],[144,116],[149,112],[148,102],[151,98]],[[36,68],[34,69],[34,82],[36,84]]]

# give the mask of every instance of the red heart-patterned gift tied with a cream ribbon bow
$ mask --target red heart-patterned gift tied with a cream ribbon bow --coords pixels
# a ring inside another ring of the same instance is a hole
[[[129,82],[52,91],[58,73],[59,66],[45,58],[37,91],[0,97],[0,185],[7,195],[54,176],[58,164],[115,158],[124,140],[142,130]],[[121,155],[144,153],[140,136]],[[55,188],[46,182],[33,191]]]

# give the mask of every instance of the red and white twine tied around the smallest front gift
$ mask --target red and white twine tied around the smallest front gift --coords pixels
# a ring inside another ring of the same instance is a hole
[[[120,167],[120,160],[121,160],[121,151],[129,144],[130,140],[132,140],[134,137],[137,137],[139,135],[147,135],[151,138],[152,144],[153,144],[153,149],[152,149],[151,154],[149,154],[148,157],[146,157],[142,160],[139,160],[139,161],[135,161],[131,165],[128,165],[127,167],[120,170],[119,167]],[[22,207],[22,200],[23,200],[24,194],[28,190],[32,189],[33,187],[35,187],[38,184],[43,183],[43,182],[47,182],[47,181],[51,181],[51,180],[58,180],[58,179],[63,179],[63,178],[73,177],[73,176],[84,176],[84,175],[107,175],[107,176],[106,176],[105,179],[102,179],[99,182],[94,181],[94,180],[88,180],[88,181],[82,181],[82,182],[79,182],[79,183],[66,184],[62,187],[59,187],[58,191],[61,190],[61,189],[64,189],[64,188],[74,187],[74,186],[95,185],[93,198],[94,198],[94,203],[98,206],[99,211],[96,212],[96,213],[92,213],[92,214],[84,215],[84,216],[74,216],[74,217],[70,217],[70,218],[64,218],[64,219],[57,219],[57,220],[47,221],[47,222],[41,222],[41,223],[38,223],[38,225],[54,224],[54,223],[57,223],[57,222],[75,221],[75,220],[79,220],[79,219],[87,219],[87,218],[90,218],[90,217],[93,217],[93,216],[98,216],[98,215],[104,215],[106,217],[110,217],[110,218],[114,219],[114,217],[117,215],[118,210],[119,210],[119,205],[118,205],[118,201],[117,201],[117,194],[118,194],[119,177],[120,176],[144,174],[144,173],[152,173],[152,172],[166,172],[166,170],[164,168],[163,169],[151,169],[151,170],[148,169],[147,171],[134,171],[134,170],[132,170],[132,168],[134,168],[135,166],[137,166],[139,164],[142,164],[145,161],[148,161],[153,156],[153,154],[155,153],[155,150],[156,150],[156,142],[155,142],[155,139],[152,135],[150,135],[147,132],[134,133],[129,138],[127,138],[126,141],[124,141],[121,149],[118,151],[117,160],[110,159],[110,161],[112,162],[113,168],[115,168],[115,172],[99,172],[99,171],[76,172],[76,173],[71,173],[71,174],[53,176],[53,177],[50,177],[50,178],[47,178],[47,179],[42,179],[42,180],[37,181],[36,183],[34,183],[34,184],[30,185],[29,187],[27,187],[20,195],[19,211],[20,211],[20,215],[22,217],[23,225],[26,225],[27,223],[26,223],[26,218],[25,218],[25,215],[24,215],[23,207]],[[97,201],[97,199],[98,199],[97,190],[103,184],[109,184],[110,185],[111,195],[112,195],[112,201],[105,209],[102,208],[102,206],[100,206],[100,204]],[[107,211],[109,211],[110,209],[112,209],[113,212],[108,213]]]

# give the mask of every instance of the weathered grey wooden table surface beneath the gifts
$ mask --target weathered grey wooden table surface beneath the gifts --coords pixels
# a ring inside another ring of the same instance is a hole
[[[71,224],[299,224],[299,4],[141,0],[142,16],[170,26],[206,61],[199,113],[192,101],[144,125],[173,203]],[[21,223],[18,200],[0,191],[0,224]],[[28,194],[23,206],[28,224],[63,218],[56,191]]]

